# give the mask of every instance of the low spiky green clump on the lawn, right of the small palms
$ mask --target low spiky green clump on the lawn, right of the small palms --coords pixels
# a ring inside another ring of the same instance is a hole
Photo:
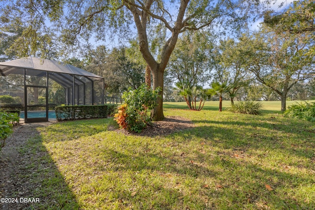
[[[228,111],[248,115],[262,115],[262,103],[254,101],[240,101],[232,107],[227,108]]]

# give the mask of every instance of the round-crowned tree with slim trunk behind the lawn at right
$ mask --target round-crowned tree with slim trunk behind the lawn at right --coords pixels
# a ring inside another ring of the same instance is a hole
[[[281,111],[284,111],[288,91],[315,73],[313,46],[305,34],[278,33],[265,26],[254,36],[243,36],[238,50],[247,60],[245,68],[280,96]]]

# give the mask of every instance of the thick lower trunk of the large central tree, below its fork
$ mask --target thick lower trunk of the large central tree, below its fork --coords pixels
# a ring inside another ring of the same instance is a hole
[[[158,97],[158,105],[151,110],[151,118],[152,120],[163,120],[164,114],[163,114],[163,84],[164,84],[164,78],[163,78],[163,70],[159,69],[159,66],[156,67],[156,69],[152,69],[152,77],[153,77],[153,90],[156,90],[158,87],[161,87],[162,90],[158,93],[160,97]]]

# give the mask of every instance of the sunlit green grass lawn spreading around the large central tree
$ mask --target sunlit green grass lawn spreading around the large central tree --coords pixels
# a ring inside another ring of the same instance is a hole
[[[197,112],[166,102],[165,116],[196,125],[166,137],[108,131],[112,119],[39,128],[25,148],[43,153],[25,166],[43,201],[33,208],[314,210],[315,124],[219,113],[217,103]],[[47,163],[53,167],[38,169]]]

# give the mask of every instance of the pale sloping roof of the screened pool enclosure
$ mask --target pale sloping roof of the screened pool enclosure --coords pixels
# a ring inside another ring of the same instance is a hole
[[[97,78],[102,79],[102,77],[100,76],[97,76],[91,72],[85,71],[81,68],[75,67],[70,64],[58,62],[55,60],[39,59],[39,58],[34,58],[34,57],[27,57],[23,59],[11,60],[7,62],[0,62],[0,69],[4,69],[8,66],[13,67],[13,68],[15,67],[15,68],[37,69],[37,70],[43,70],[43,71],[92,77],[95,79]]]

